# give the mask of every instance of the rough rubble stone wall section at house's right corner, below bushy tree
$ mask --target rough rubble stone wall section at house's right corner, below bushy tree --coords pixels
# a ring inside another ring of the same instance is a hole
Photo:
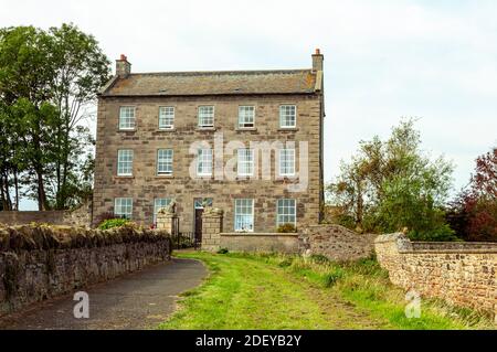
[[[377,235],[358,234],[340,225],[313,225],[300,234],[300,252],[348,262],[371,257]]]

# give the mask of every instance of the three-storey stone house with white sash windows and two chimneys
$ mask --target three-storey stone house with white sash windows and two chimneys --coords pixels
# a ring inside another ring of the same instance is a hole
[[[317,224],[324,203],[324,56],[306,70],[131,73],[121,55],[98,96],[93,224],[152,225],[176,203],[181,232],[203,207],[223,232]]]

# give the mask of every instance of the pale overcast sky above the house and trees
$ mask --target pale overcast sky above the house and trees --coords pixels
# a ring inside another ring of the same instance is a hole
[[[74,22],[134,72],[305,68],[320,47],[326,181],[401,116],[420,117],[424,149],[457,166],[455,189],[497,145],[495,0],[0,0],[0,26]]]

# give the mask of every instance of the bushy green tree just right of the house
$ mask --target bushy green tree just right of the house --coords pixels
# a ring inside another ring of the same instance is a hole
[[[382,233],[406,227],[413,239],[454,239],[443,212],[452,171],[443,158],[431,161],[423,153],[414,120],[408,119],[385,141],[362,141],[328,193],[349,227]]]

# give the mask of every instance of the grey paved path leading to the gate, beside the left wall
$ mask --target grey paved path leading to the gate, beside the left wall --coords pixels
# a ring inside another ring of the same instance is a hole
[[[0,329],[154,329],[175,311],[177,296],[208,275],[200,262],[173,258],[86,290],[89,319],[75,319],[73,295],[0,319]]]

